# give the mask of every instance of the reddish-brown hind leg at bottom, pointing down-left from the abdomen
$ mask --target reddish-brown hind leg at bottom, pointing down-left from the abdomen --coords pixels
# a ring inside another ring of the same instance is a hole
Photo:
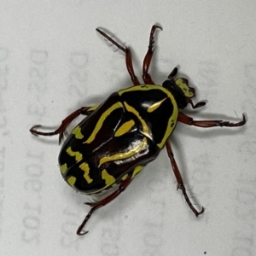
[[[109,202],[113,201],[116,197],[118,197],[122,192],[125,191],[125,189],[129,186],[129,184],[132,181],[131,178],[132,172],[129,174],[129,176],[122,181],[119,184],[119,189],[114,191],[111,195],[108,195],[106,198],[102,199],[102,201],[96,201],[96,202],[87,202],[86,205],[89,205],[91,207],[90,212],[85,216],[84,221],[82,224],[80,224],[79,229],[77,230],[77,234],[79,236],[83,236],[89,231],[82,231],[84,229],[85,224],[89,220],[91,214],[95,212],[97,209],[106,206]]]

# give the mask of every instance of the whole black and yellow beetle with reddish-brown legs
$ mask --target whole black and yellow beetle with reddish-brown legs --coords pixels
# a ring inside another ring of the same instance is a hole
[[[193,104],[191,98],[195,97],[195,89],[189,87],[187,79],[174,79],[177,67],[172,70],[162,86],[154,84],[148,68],[154,53],[154,31],[157,28],[161,29],[160,26],[152,26],[148,52],[143,61],[144,84],[140,84],[133,71],[130,49],[123,48],[106,33],[96,29],[104,38],[125,52],[126,67],[133,86],[113,92],[106,101],[95,107],[79,108],[67,116],[53,132],[37,131],[40,125],[33,126],[30,130],[37,136],[59,134],[61,143],[67,126],[80,114],[85,115],[61,148],[61,174],[73,189],[87,195],[100,193],[119,184],[118,189],[102,201],[86,203],[91,209],[79,226],[78,235],[88,232],[83,228],[91,214],[123,192],[133,177],[154,160],[164,147],[177,178],[177,189],[183,191],[184,198],[195,215],[200,215],[204,208],[198,212],[189,201],[168,138],[177,121],[203,128],[236,127],[246,123],[244,115],[240,122],[230,123],[222,120],[194,120],[184,114],[182,109],[186,108],[188,103],[192,108],[200,108],[206,103]]]

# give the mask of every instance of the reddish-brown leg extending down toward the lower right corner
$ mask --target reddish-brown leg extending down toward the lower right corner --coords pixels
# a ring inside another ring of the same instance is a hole
[[[183,177],[181,176],[178,167],[177,167],[177,163],[176,160],[174,159],[174,155],[172,152],[172,147],[171,147],[171,143],[169,143],[168,141],[166,141],[166,150],[167,150],[167,154],[171,160],[171,164],[172,164],[172,170],[174,172],[174,175],[177,179],[177,189],[181,189],[183,191],[183,195],[184,198],[187,202],[187,204],[189,205],[190,209],[192,210],[192,212],[195,213],[195,216],[198,217],[198,215],[200,215],[202,212],[204,212],[204,207],[202,207],[201,212],[198,212],[195,207],[193,206],[193,204],[191,203],[191,201],[189,200],[189,196],[187,195],[185,186],[183,184]]]

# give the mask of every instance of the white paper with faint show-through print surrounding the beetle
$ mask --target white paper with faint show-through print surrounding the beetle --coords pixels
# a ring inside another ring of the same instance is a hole
[[[0,1],[0,255],[256,255],[255,1]],[[86,236],[75,232],[90,207],[61,179],[57,137],[32,125],[131,85],[124,56],[96,33],[107,29],[142,60],[153,24],[150,73],[173,67],[207,100],[196,119],[242,128],[177,125],[172,136],[187,189],[206,212],[195,218],[176,191],[166,150],[107,207]]]

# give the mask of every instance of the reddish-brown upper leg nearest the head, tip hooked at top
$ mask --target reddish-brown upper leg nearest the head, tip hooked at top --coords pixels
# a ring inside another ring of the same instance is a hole
[[[160,26],[156,26],[156,25],[152,26],[150,36],[149,36],[148,52],[145,55],[145,58],[143,61],[143,81],[145,84],[154,84],[150,74],[148,73],[148,69],[154,53],[154,31],[156,28],[160,28],[160,30],[162,29]]]

